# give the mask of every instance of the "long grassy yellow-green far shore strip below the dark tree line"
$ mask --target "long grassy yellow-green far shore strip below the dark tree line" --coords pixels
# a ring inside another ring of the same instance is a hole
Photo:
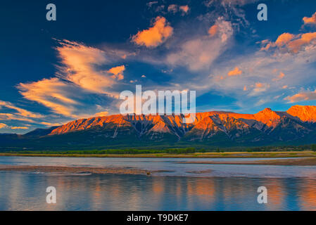
[[[187,153],[187,154],[45,154],[45,153],[0,153],[6,157],[53,157],[53,158],[313,158],[312,151],[293,152],[227,152],[227,153]]]

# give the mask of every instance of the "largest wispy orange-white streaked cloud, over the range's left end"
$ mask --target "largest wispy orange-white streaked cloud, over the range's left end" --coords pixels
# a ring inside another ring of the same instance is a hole
[[[102,68],[112,66],[113,60],[122,58],[108,59],[106,56],[113,56],[113,51],[107,55],[105,51],[77,42],[64,40],[58,41],[58,44],[61,45],[56,48],[61,65],[57,66],[56,77],[18,84],[17,88],[23,98],[44,105],[59,118],[91,117],[99,111],[96,103],[103,105],[115,101],[118,92],[113,85],[124,78],[125,65],[110,70]],[[27,112],[20,110],[20,113]],[[12,116],[6,117],[13,119]],[[38,123],[56,124],[51,121]]]

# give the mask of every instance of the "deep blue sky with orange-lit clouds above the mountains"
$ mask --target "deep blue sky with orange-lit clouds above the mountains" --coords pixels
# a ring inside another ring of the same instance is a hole
[[[0,133],[117,114],[135,84],[194,90],[198,112],[315,105],[315,13],[312,0],[6,1]]]

